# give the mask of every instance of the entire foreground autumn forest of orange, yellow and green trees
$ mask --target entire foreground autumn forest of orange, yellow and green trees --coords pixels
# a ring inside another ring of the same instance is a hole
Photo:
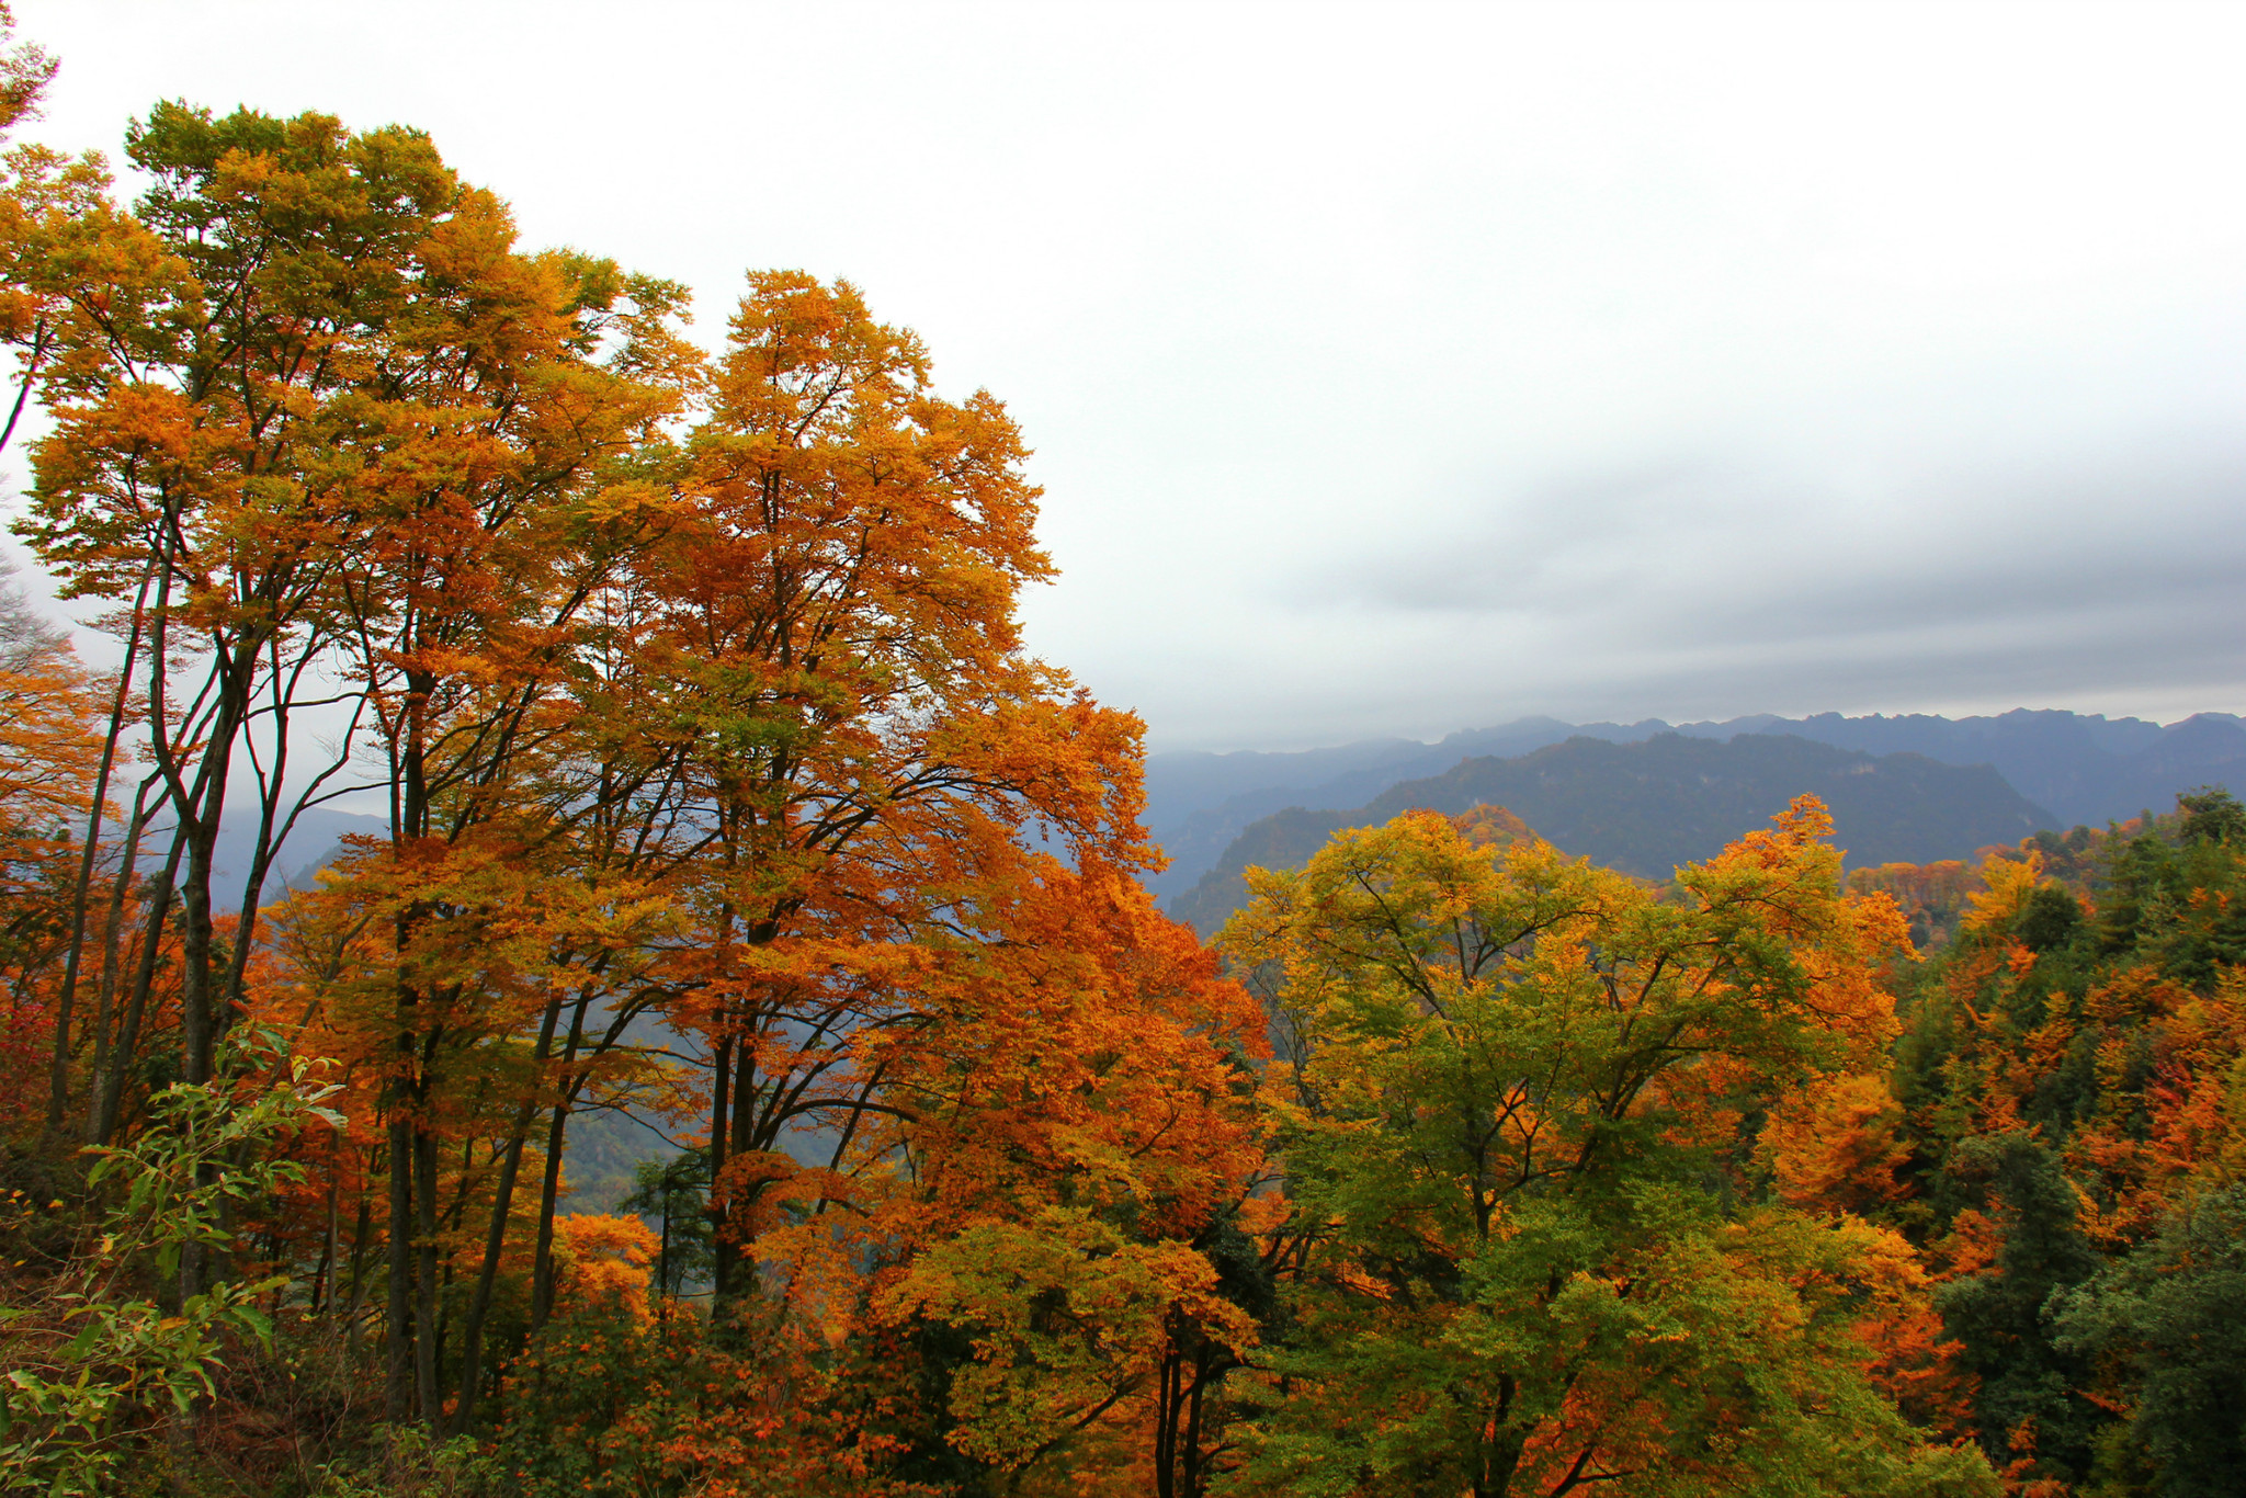
[[[1204,941],[1022,647],[1022,433],[853,285],[703,350],[411,128],[126,153],[0,182],[18,535],[115,638],[0,602],[0,1491],[2246,1462],[2228,793],[1846,876],[1806,786],[1626,871],[1381,806]]]

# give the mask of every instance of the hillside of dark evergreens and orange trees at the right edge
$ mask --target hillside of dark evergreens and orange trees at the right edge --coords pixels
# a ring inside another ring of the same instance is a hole
[[[1979,874],[1851,876],[1954,937],[1893,972],[1884,1087],[1797,1105],[1777,1179],[1920,1249],[1929,1395],[2015,1491],[2221,1494],[2246,1469],[2242,874],[2246,811],[2208,791]]]

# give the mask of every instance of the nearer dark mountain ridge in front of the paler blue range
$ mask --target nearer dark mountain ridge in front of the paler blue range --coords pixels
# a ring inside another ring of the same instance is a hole
[[[2019,842],[2053,817],[1994,768],[1925,755],[1866,755],[1795,734],[1705,739],[1678,732],[1635,743],[1572,737],[1521,757],[1462,759],[1442,775],[1390,786],[1348,811],[1291,806],[1251,822],[1170,914],[1213,934],[1244,898],[1251,865],[1291,869],[1343,826],[1368,826],[1428,806],[1460,813],[1505,806],[1541,838],[1592,862],[1667,878],[1765,826],[1801,793],[1833,811],[1848,865],[1965,858]]]

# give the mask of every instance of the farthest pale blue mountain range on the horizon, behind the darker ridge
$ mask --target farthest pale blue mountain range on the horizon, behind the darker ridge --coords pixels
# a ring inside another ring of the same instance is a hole
[[[1442,775],[1469,757],[1518,757],[1572,737],[1642,743],[1667,732],[1718,741],[1736,734],[1790,734],[1866,755],[1905,752],[1954,766],[1985,764],[2026,800],[2044,806],[2055,826],[2125,820],[2147,806],[2161,811],[2179,791],[2201,784],[2246,788],[2246,725],[2226,712],[2201,712],[2167,728],[2145,719],[2028,707],[1970,719],[1848,719],[1837,712],[1806,719],[1756,714],[1727,723],[1518,719],[1437,743],[1368,739],[1303,752],[1152,755],[1148,829],[1172,865],[1150,885],[1166,901],[1177,901],[1251,822],[1287,806],[1363,806],[1388,786]]]

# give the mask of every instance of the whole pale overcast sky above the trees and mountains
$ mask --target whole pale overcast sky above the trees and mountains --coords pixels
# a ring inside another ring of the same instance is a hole
[[[2246,710],[2246,7],[16,13],[31,139],[404,121],[705,328],[856,281],[1020,418],[1033,647],[1154,748]]]

